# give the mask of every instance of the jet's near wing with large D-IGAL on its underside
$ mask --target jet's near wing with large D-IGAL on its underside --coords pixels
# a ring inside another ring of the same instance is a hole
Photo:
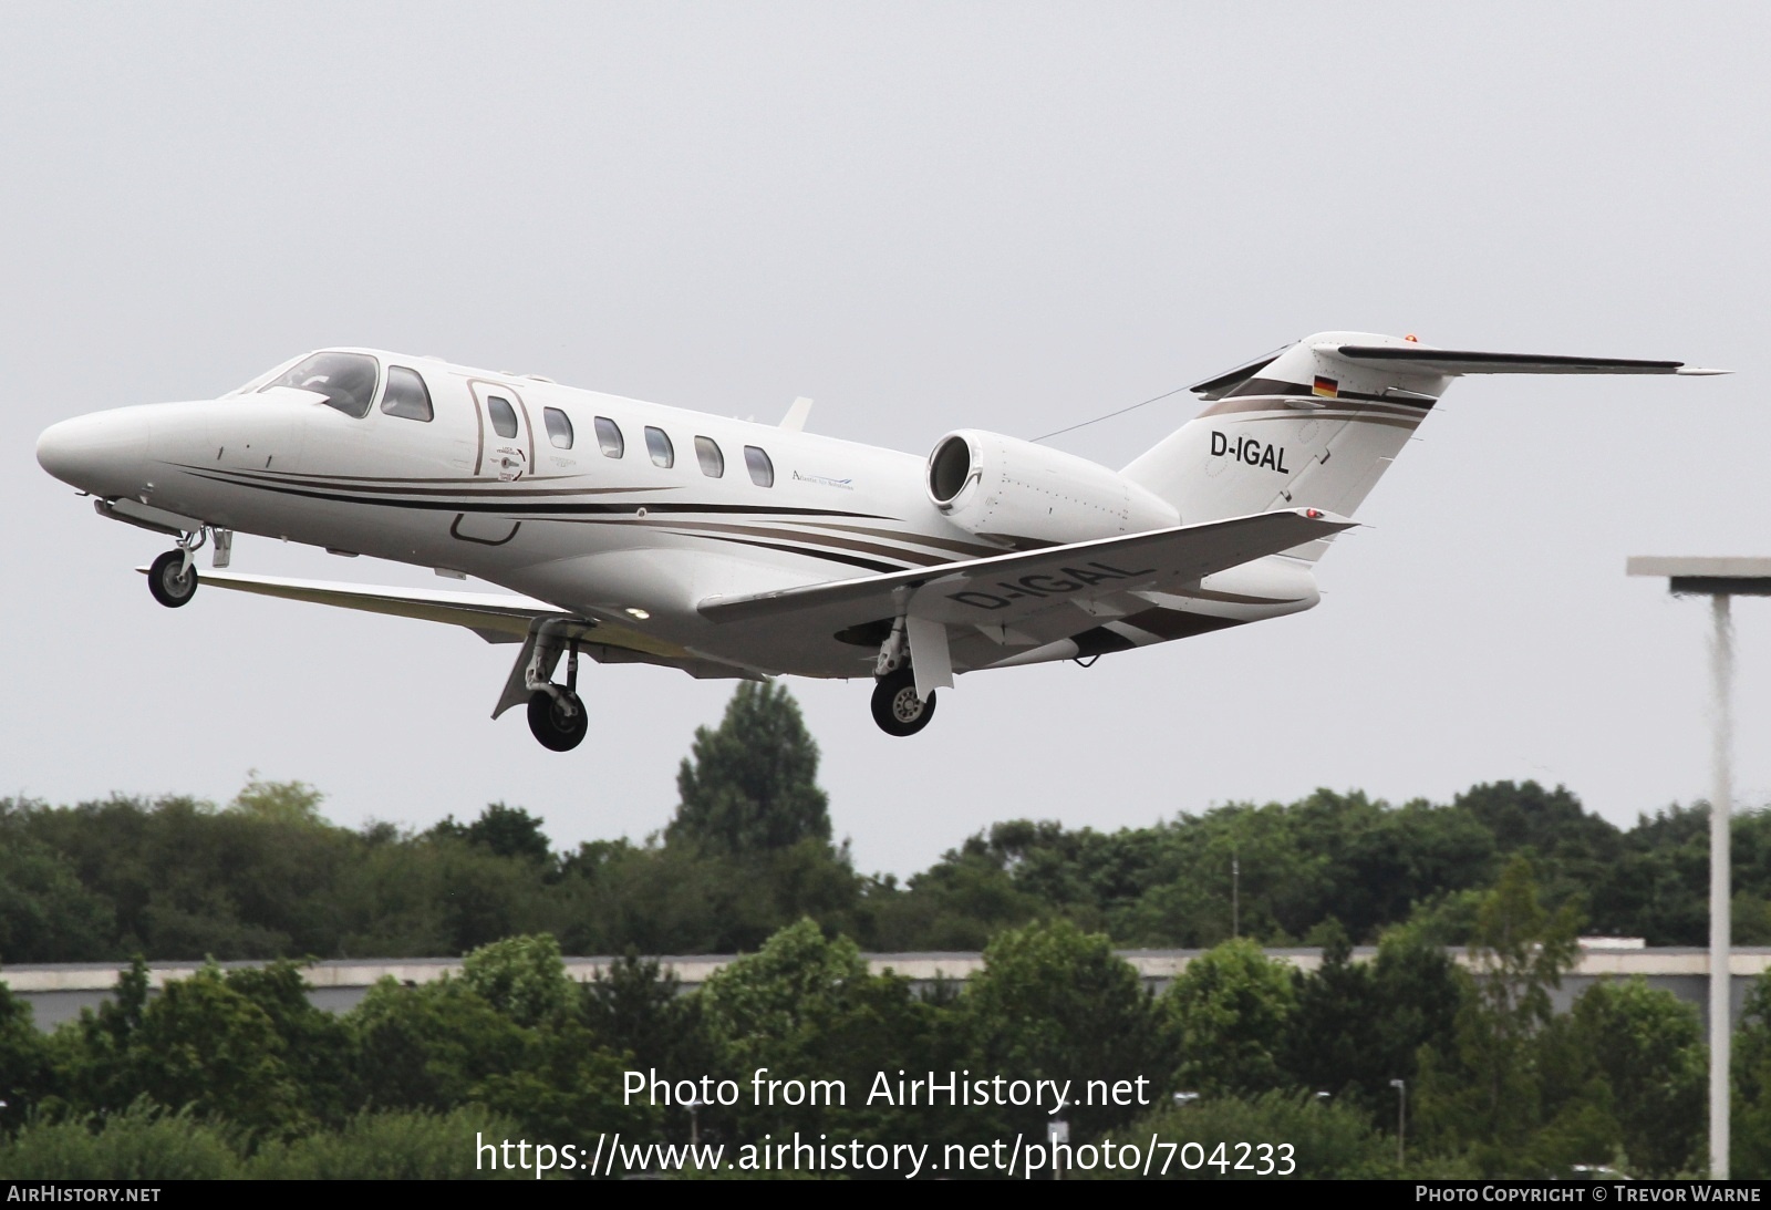
[[[1263,512],[806,588],[712,597],[700,609],[712,622],[806,615],[820,629],[841,629],[898,615],[944,625],[1015,627],[1082,606],[1080,622],[1087,604],[1100,597],[1187,585],[1353,524],[1319,508]]]

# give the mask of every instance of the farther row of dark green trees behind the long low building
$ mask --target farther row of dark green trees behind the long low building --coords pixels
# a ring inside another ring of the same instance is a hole
[[[1121,946],[1374,942],[1401,923],[1463,944],[1516,856],[1592,932],[1707,939],[1704,806],[1620,829],[1532,781],[1447,804],[1318,790],[1114,833],[1008,820],[900,882],[832,843],[816,764],[786,689],[746,684],[696,732],[673,822],[641,842],[554,850],[501,803],[352,831],[301,783],[251,781],[220,808],[0,799],[0,960],[459,955],[537,932],[568,953],[737,953],[806,916],[871,951],[979,950],[1050,916]],[[1734,882],[1736,942],[1771,942],[1764,811],[1734,822]]]

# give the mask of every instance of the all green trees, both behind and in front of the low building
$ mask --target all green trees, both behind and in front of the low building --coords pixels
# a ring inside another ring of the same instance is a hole
[[[1038,1107],[862,1102],[898,1070],[1142,1081],[1139,1104],[1066,1111],[1073,1137],[1282,1139],[1302,1176],[1702,1164],[1695,1010],[1638,980],[1551,1012],[1582,928],[1702,939],[1702,808],[1619,829],[1534,783],[1403,806],[1321,790],[1118,833],[1004,822],[900,884],[832,843],[797,707],[749,684],[696,732],[678,792],[661,834],[570,852],[505,804],[342,829],[301,783],[220,808],[5,803],[0,957],[128,966],[51,1033],[0,987],[0,1178],[489,1175],[476,1136],[1043,1137]],[[1741,941],[1767,932],[1766,826],[1736,822]],[[1321,967],[1263,942],[1319,944]],[[1204,953],[1156,996],[1116,946]],[[962,987],[862,957],[974,948]],[[574,983],[561,951],[623,957]],[[742,957],[694,994],[639,957],[698,951]],[[453,953],[459,978],[383,981],[338,1015],[301,973]],[[271,962],[149,994],[145,958],[204,957]],[[691,1114],[622,1095],[629,1070],[742,1086],[758,1068],[850,1100]],[[1771,1175],[1771,985],[1734,1081],[1734,1171]]]

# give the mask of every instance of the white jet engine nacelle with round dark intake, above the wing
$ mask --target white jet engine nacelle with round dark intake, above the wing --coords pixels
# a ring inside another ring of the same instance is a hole
[[[935,443],[928,498],[990,539],[1063,544],[1181,523],[1172,505],[1100,462],[979,429]]]

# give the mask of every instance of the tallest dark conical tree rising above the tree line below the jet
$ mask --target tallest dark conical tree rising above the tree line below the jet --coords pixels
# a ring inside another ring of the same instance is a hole
[[[831,838],[818,746],[786,686],[746,680],[717,730],[698,726],[677,772],[671,840],[754,854]]]

